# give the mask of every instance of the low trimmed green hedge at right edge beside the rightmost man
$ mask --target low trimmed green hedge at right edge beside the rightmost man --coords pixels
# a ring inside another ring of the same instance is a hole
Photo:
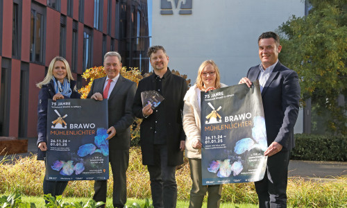
[[[296,134],[291,159],[311,161],[347,161],[347,137]]]

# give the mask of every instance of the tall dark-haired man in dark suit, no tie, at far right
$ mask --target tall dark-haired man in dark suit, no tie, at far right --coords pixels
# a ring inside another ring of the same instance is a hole
[[[287,176],[291,148],[294,148],[294,125],[298,117],[300,85],[298,73],[278,60],[282,46],[276,33],[262,33],[258,38],[262,64],[251,67],[239,81],[251,87],[259,80],[265,114],[269,156],[264,178],[255,182],[259,207],[287,207]]]

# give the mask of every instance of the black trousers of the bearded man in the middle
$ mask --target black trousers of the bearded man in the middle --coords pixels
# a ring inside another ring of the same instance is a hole
[[[154,145],[155,166],[147,166],[151,180],[151,193],[155,208],[176,207],[176,166],[167,165],[167,146]]]

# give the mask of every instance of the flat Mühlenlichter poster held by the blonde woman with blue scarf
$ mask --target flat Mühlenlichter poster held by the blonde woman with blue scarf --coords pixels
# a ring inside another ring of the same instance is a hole
[[[107,130],[107,99],[50,99],[46,179],[107,180]]]

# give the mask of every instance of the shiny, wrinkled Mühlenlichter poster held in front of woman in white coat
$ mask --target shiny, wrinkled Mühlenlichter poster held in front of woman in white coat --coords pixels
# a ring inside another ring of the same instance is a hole
[[[267,157],[259,82],[201,92],[203,185],[262,180]]]

